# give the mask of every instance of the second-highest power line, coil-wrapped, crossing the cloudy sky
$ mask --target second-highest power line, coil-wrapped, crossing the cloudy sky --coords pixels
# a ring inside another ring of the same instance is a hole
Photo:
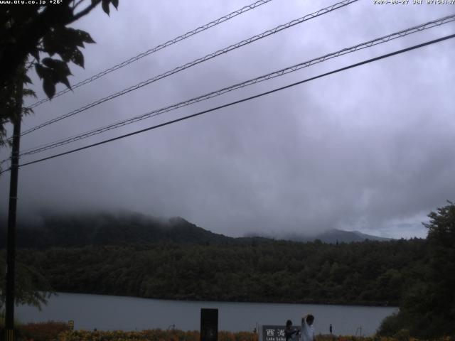
[[[107,102],[110,99],[114,99],[116,97],[119,97],[119,96],[122,96],[124,94],[127,94],[128,92],[132,92],[134,90],[137,90],[137,89],[139,89],[141,87],[144,87],[145,85],[151,84],[152,82],[156,82],[157,80],[161,80],[164,77],[168,77],[170,75],[173,75],[174,73],[180,72],[182,70],[186,70],[188,67],[192,67],[192,66],[197,65],[199,63],[203,63],[203,62],[205,62],[207,60],[210,60],[212,58],[218,57],[218,55],[222,55],[224,53],[228,53],[231,50],[235,50],[235,49],[240,48],[240,47],[242,47],[244,45],[248,45],[250,43],[253,43],[256,40],[265,38],[267,36],[271,36],[274,33],[277,33],[279,31],[283,31],[283,30],[285,30],[287,28],[290,28],[292,26],[298,25],[299,23],[303,23],[304,21],[308,21],[308,20],[310,20],[312,18],[316,18],[318,16],[321,16],[323,14],[329,13],[331,11],[335,11],[336,9],[340,9],[341,7],[344,7],[344,6],[347,6],[349,4],[352,4],[355,1],[358,1],[358,0],[344,0],[344,1],[338,2],[336,4],[333,4],[331,6],[328,6],[328,7],[324,8],[324,9],[320,9],[319,11],[316,11],[314,13],[307,14],[306,16],[304,16],[302,18],[294,19],[293,21],[289,21],[289,23],[285,23],[285,24],[279,25],[279,26],[277,26],[275,28],[272,28],[271,30],[264,31],[263,33],[260,33],[260,34],[258,34],[256,36],[252,36],[250,38],[247,38],[245,40],[240,41],[239,43],[235,43],[234,45],[230,45],[227,48],[223,48],[223,49],[218,50],[218,51],[216,51],[214,53],[210,53],[208,55],[205,55],[205,57],[203,57],[203,58],[198,58],[196,60],[193,60],[190,63],[186,63],[185,65],[181,65],[179,67],[176,67],[173,70],[168,70],[168,71],[162,73],[161,75],[157,75],[155,77],[152,77],[149,80],[145,80],[144,82],[140,82],[137,85],[133,85],[132,87],[128,87],[127,89],[124,89],[122,91],[116,92],[114,94],[110,94],[109,96],[104,97],[102,99],[98,99],[97,101],[92,102],[90,104],[87,104],[84,107],[81,107],[79,109],[73,110],[73,112],[68,112],[68,114],[64,114],[64,115],[62,115],[60,117],[56,117],[55,119],[51,119],[50,121],[46,121],[43,124],[39,124],[38,126],[34,126],[31,129],[23,131],[21,136],[26,135],[26,134],[30,134],[32,131],[36,131],[37,129],[41,129],[44,126],[48,126],[49,124],[53,124],[53,123],[55,123],[57,121],[60,121],[60,120],[65,119],[67,117],[71,117],[71,116],[73,116],[75,114],[78,114],[80,112],[84,112],[85,110],[90,109],[92,107],[95,107],[98,104]]]

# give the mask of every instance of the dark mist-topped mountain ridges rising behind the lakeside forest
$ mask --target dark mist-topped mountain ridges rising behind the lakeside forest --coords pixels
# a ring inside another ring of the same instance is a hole
[[[47,249],[49,247],[84,247],[87,245],[121,245],[176,243],[201,245],[241,245],[285,239],[294,242],[325,243],[387,240],[360,232],[332,229],[314,237],[301,234],[284,237],[227,237],[196,226],[181,217],[168,220],[147,217],[138,213],[47,215],[38,225],[23,225],[17,229],[18,247]],[[6,247],[6,230],[0,230],[0,248]]]

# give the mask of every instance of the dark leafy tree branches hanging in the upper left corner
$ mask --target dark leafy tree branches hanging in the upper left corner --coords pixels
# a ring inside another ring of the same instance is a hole
[[[95,43],[89,33],[67,27],[101,4],[109,14],[109,5],[116,9],[118,0],[60,0],[59,4],[4,4],[0,11],[0,144],[4,144],[4,124],[18,118],[17,107],[23,99],[15,94],[30,83],[28,70],[36,70],[45,94],[52,98],[55,85],[70,87],[69,63],[84,67],[81,48]],[[19,85],[18,85],[19,83]],[[25,89],[23,96],[34,95]],[[24,108],[21,115],[28,114]]]

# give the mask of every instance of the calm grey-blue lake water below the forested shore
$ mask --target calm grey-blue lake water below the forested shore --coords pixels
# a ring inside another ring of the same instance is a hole
[[[315,316],[316,335],[328,334],[330,324],[336,335],[360,335],[360,328],[362,335],[373,335],[381,320],[397,311],[360,305],[168,301],[58,293],[41,311],[25,305],[17,307],[16,318],[23,323],[74,320],[75,329],[84,330],[199,330],[200,308],[218,308],[218,329],[232,332],[284,325],[288,319],[298,324],[302,315],[311,313]]]

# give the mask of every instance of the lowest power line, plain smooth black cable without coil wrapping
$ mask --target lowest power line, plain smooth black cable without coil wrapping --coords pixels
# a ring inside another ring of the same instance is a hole
[[[100,141],[100,142],[97,142],[96,144],[90,144],[88,146],[83,146],[83,147],[80,147],[80,148],[75,148],[71,151],[65,151],[64,153],[58,153],[58,154],[55,154],[53,156],[48,156],[46,158],[41,158],[41,159],[38,159],[38,160],[35,160],[35,161],[31,161],[31,162],[28,162],[28,163],[22,163],[21,165],[19,165],[19,167],[23,167],[23,166],[28,166],[28,165],[31,165],[33,163],[39,163],[39,162],[42,162],[42,161],[46,161],[46,160],[50,160],[51,158],[57,158],[59,156],[64,156],[64,155],[67,155],[67,154],[70,154],[70,153],[75,153],[76,151],[82,151],[84,149],[87,149],[87,148],[92,148],[92,147],[95,147],[95,146],[100,146],[102,144],[107,144],[109,142],[112,142],[112,141],[116,141],[116,140],[119,140],[119,139],[124,139],[126,137],[129,137],[129,136],[133,136],[133,135],[137,135],[137,134],[141,134],[145,131],[149,131],[149,130],[153,130],[153,129],[157,129],[157,128],[161,128],[162,126],[167,126],[169,124],[173,124],[173,123],[176,123],[178,121],[184,121],[186,119],[191,119],[193,117],[197,117],[197,116],[200,116],[202,114],[207,114],[208,112],[214,112],[216,110],[219,110],[219,109],[223,109],[223,108],[226,108],[226,107],[230,107],[232,105],[235,105],[235,104],[239,104],[239,103],[242,103],[242,102],[247,102],[247,101],[250,101],[251,99],[256,99],[256,98],[259,98],[259,97],[262,97],[262,96],[265,96],[267,94],[272,94],[274,92],[278,92],[278,91],[281,91],[281,90],[284,90],[284,89],[288,89],[289,87],[294,87],[296,85],[300,85],[300,84],[303,84],[305,82],[310,82],[311,80],[316,80],[316,79],[319,79],[321,77],[326,77],[328,75],[333,75],[335,73],[338,73],[338,72],[341,72],[341,71],[345,71],[345,70],[349,70],[349,69],[352,69],[353,67],[358,67],[360,65],[365,65],[365,64],[368,64],[368,63],[373,63],[377,60],[381,60],[381,59],[385,59],[385,58],[389,58],[389,57],[392,57],[393,55],[398,55],[400,53],[405,53],[405,52],[408,52],[410,50],[415,50],[417,48],[422,48],[424,46],[427,46],[427,45],[432,45],[434,43],[439,43],[443,40],[448,40],[448,39],[451,39],[451,38],[455,38],[455,34],[451,34],[450,36],[444,36],[442,38],[438,38],[438,39],[434,39],[434,40],[430,40],[430,41],[427,41],[426,43],[421,43],[421,44],[418,44],[418,45],[413,45],[411,46],[410,48],[404,48],[402,50],[397,50],[395,52],[392,52],[392,53],[387,53],[385,55],[380,55],[378,57],[375,57],[375,58],[370,58],[368,60],[363,60],[362,62],[360,63],[355,63],[355,64],[351,64],[351,65],[348,65],[346,67],[341,67],[339,69],[336,69],[336,70],[333,70],[331,72],[326,72],[326,73],[323,73],[321,75],[318,75],[318,76],[315,76],[315,77],[310,77],[310,78],[307,78],[306,80],[301,80],[299,82],[294,82],[292,84],[289,84],[289,85],[286,85],[284,87],[278,87],[274,90],[269,90],[267,92],[262,92],[260,94],[256,94],[254,96],[251,96],[251,97],[246,97],[244,99],[240,99],[240,100],[237,100],[235,102],[230,102],[228,104],[223,104],[223,105],[220,105],[219,107],[214,107],[212,109],[208,109],[208,110],[203,110],[202,112],[197,112],[196,114],[191,114],[191,115],[188,115],[186,117],[181,117],[179,119],[173,119],[171,121],[167,121],[167,122],[164,122],[162,124],[157,124],[155,126],[149,126],[148,128],[146,129],[141,129],[141,130],[138,130],[138,131],[134,131],[132,133],[129,133],[129,134],[124,134],[124,135],[121,135],[121,136],[117,136],[117,137],[114,137],[112,139],[107,139],[105,141]],[[9,171],[9,169],[7,169],[6,171]],[[6,171],[3,171],[1,173],[4,173]]]

